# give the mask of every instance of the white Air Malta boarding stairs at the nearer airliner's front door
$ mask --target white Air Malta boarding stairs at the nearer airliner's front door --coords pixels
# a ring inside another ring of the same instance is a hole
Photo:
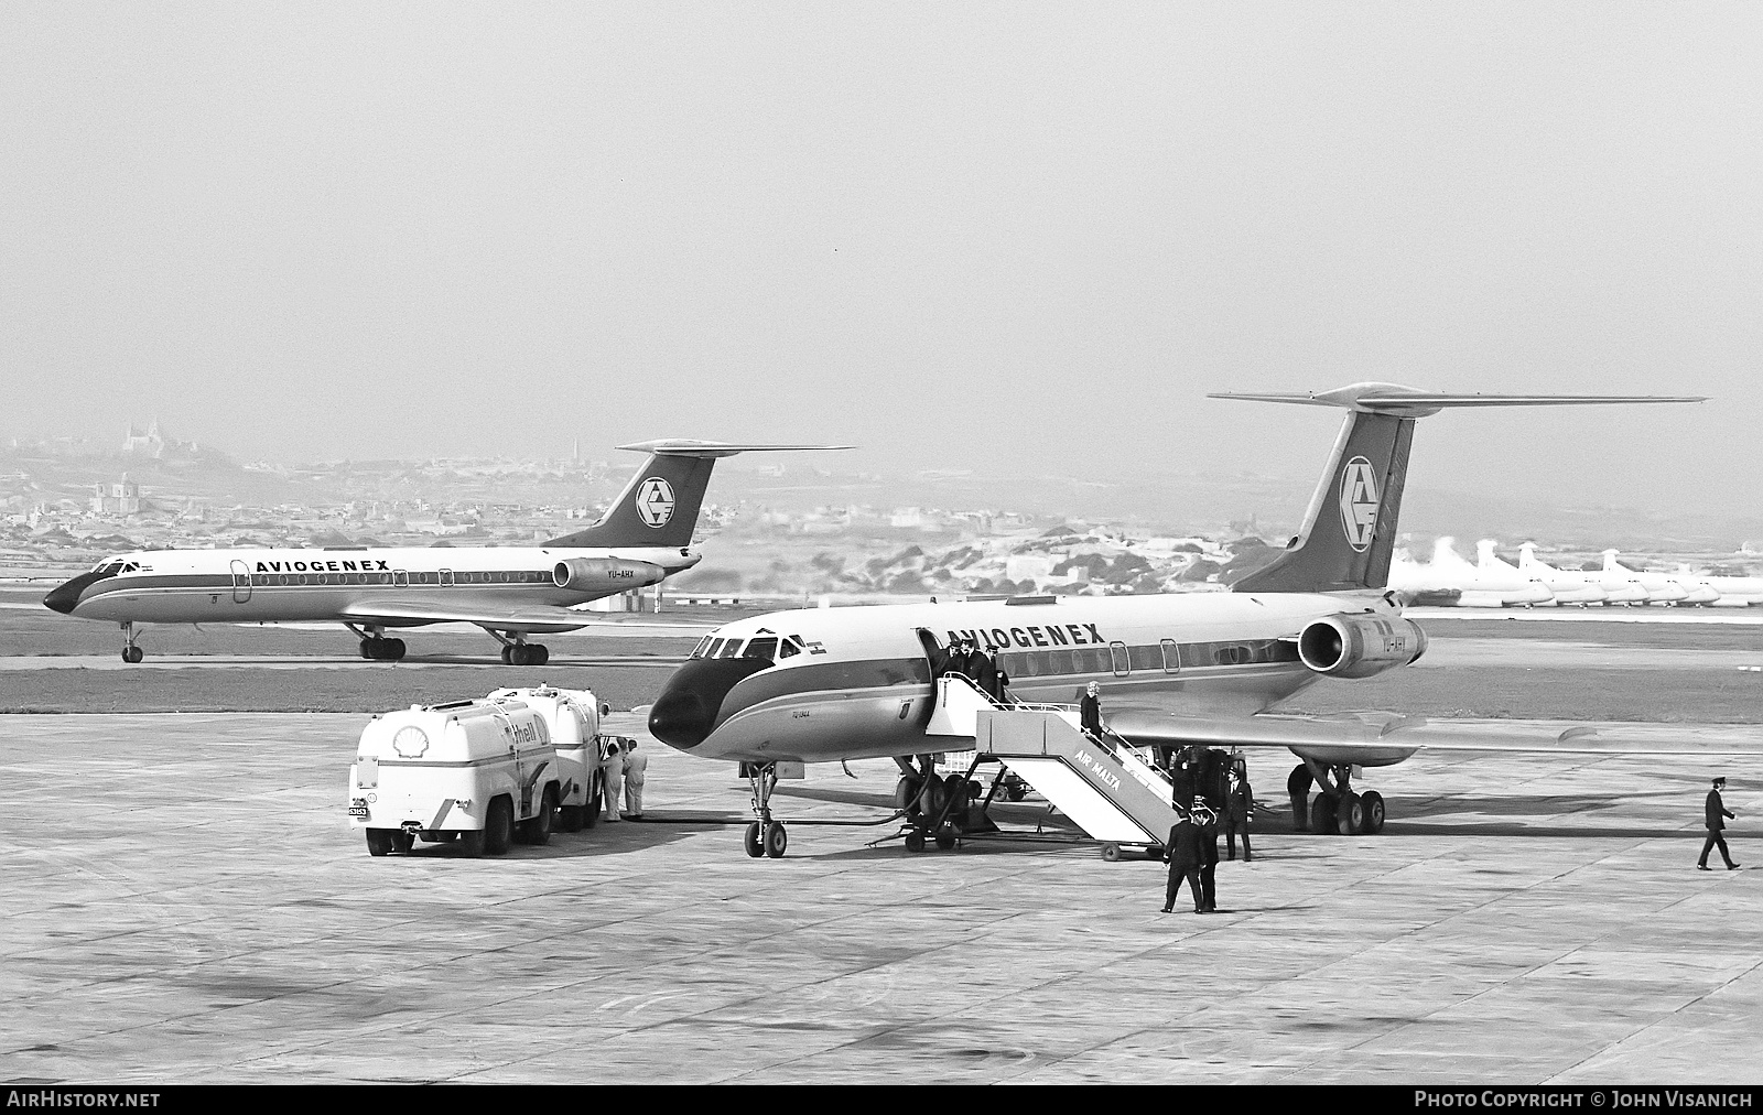
[[[1091,838],[1160,850],[1176,824],[1172,785],[1132,745],[1104,729],[1090,736],[1077,706],[996,702],[959,674],[938,679],[929,736],[973,739],[978,762],[1001,762]],[[1111,854],[1112,852],[1112,854]]]

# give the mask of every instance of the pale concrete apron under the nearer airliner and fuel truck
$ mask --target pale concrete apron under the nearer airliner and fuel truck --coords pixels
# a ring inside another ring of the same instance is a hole
[[[1349,838],[1289,833],[1291,759],[1252,755],[1255,861],[1165,916],[1160,864],[1090,843],[748,859],[746,785],[647,736],[645,822],[372,859],[363,720],[0,718],[0,1080],[1763,1081],[1763,875],[1694,870],[1710,760],[1423,755]],[[894,766],[852,769],[779,812],[885,815]]]

